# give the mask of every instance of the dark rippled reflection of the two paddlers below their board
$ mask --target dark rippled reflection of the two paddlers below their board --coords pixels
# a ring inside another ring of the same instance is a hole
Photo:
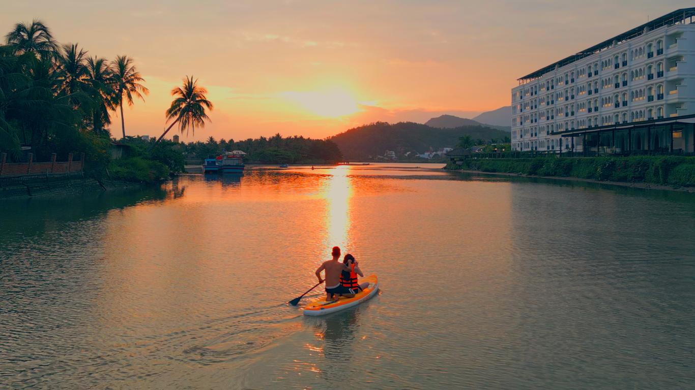
[[[354,342],[359,328],[359,309],[329,314],[316,326],[316,337],[324,341],[323,377],[330,382],[343,382],[352,378]]]

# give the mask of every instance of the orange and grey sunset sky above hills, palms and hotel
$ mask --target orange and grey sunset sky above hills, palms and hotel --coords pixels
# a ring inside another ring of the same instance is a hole
[[[423,123],[509,105],[516,79],[689,1],[2,0],[0,31],[39,18],[90,56],[136,60],[149,96],[126,134],[166,127],[193,75],[215,105],[181,140],[325,138],[374,121]],[[120,115],[120,114],[119,114]],[[169,137],[173,135],[170,132]],[[111,133],[121,133],[113,115]]]

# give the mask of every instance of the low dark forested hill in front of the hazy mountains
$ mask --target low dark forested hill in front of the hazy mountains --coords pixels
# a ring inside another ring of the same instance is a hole
[[[436,151],[444,147],[454,147],[459,142],[459,137],[464,135],[489,141],[493,138],[509,137],[509,131],[483,126],[435,128],[414,122],[377,122],[351,128],[334,135],[330,140],[338,145],[346,159],[366,160],[370,156],[384,155],[387,150],[403,155],[407,152],[423,153],[430,148]]]

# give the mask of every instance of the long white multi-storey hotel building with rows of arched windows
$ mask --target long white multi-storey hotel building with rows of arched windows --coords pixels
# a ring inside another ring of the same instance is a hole
[[[512,149],[694,153],[695,8],[519,78]]]

